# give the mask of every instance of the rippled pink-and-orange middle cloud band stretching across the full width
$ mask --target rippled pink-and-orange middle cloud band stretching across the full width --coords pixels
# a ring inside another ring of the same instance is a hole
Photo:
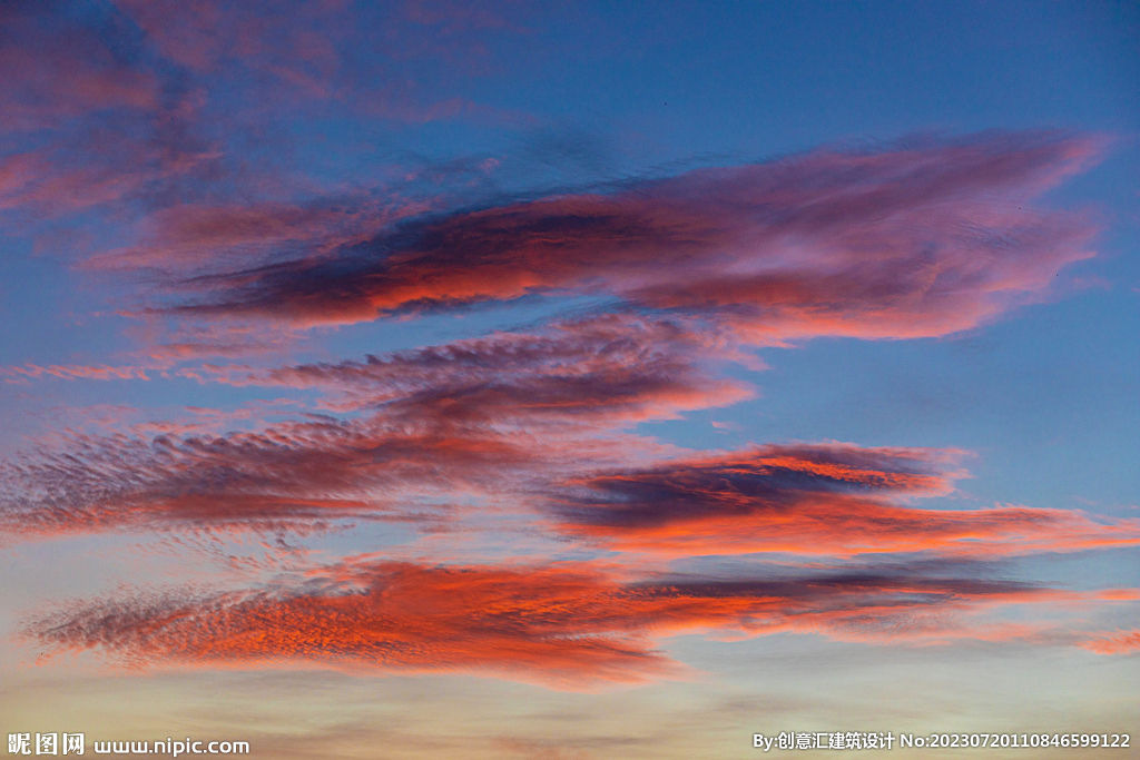
[[[304,531],[349,517],[426,525],[443,520],[440,505],[473,499],[545,509],[537,526],[552,534],[667,556],[982,556],[1140,542],[1135,520],[912,506],[953,490],[961,451],[803,443],[694,456],[626,432],[749,398],[747,385],[714,373],[731,358],[741,358],[731,343],[684,321],[609,314],[361,361],[185,369],[317,389],[319,406],[349,417],[229,433],[153,422],[76,432],[0,472],[0,517],[27,537]]]

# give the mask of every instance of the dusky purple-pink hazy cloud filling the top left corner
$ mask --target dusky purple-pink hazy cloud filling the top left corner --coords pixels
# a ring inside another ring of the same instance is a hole
[[[0,40],[0,211],[9,227],[111,204],[121,223],[173,178],[217,170],[212,146],[189,129],[197,93],[109,3],[6,3]]]

